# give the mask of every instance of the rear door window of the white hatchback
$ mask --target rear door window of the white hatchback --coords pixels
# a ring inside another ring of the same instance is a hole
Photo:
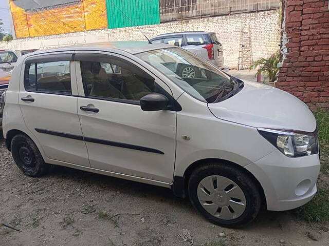
[[[70,61],[26,64],[24,87],[30,92],[71,95]]]

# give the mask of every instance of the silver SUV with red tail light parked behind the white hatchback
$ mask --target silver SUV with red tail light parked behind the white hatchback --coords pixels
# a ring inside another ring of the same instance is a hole
[[[222,44],[214,32],[173,32],[158,35],[150,39],[153,43],[165,43],[186,49],[208,60],[217,67],[224,63]],[[196,76],[194,69],[186,68],[184,76]]]

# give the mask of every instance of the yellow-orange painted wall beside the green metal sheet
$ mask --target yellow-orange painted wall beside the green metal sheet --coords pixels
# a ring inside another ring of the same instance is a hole
[[[105,0],[82,0],[40,11],[25,11],[10,1],[10,8],[17,38],[107,28]]]

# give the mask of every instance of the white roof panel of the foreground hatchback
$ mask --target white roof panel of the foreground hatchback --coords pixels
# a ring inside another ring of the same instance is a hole
[[[37,50],[32,53],[26,54],[26,57],[36,55],[36,54],[45,54],[50,52],[59,52],[59,51],[74,51],[74,50],[93,50],[93,51],[114,51],[118,53],[120,51],[128,52],[131,54],[137,54],[150,50],[157,50],[163,48],[171,48],[172,45],[154,43],[149,44],[148,42],[143,41],[118,41],[118,42],[100,42],[100,43],[90,43],[90,44],[77,44],[74,46],[65,46],[61,48],[47,49],[47,50]]]

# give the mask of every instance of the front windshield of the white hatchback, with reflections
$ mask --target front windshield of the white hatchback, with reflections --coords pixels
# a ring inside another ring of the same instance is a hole
[[[210,104],[229,98],[243,87],[241,80],[232,79],[207,61],[183,49],[151,50],[136,56],[168,76],[193,97]]]

